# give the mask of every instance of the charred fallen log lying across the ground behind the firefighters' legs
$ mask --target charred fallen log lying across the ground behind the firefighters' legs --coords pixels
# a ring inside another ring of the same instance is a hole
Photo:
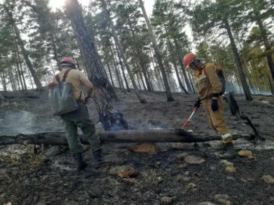
[[[205,134],[203,136],[171,129],[144,129],[144,130],[118,130],[99,133],[100,141],[111,143],[137,143],[137,142],[184,142],[198,143],[213,140],[220,140],[220,137]],[[249,137],[249,134],[233,135],[234,139]],[[84,144],[88,141],[80,135],[80,140]],[[68,144],[64,132],[44,132],[31,135],[20,134],[17,136],[0,136],[0,145],[4,144],[31,144],[57,145]]]

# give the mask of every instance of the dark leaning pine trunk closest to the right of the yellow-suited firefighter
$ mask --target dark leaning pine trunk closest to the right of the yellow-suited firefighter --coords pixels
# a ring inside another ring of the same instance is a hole
[[[242,65],[242,62],[240,60],[240,56],[239,56],[239,53],[238,53],[234,38],[232,36],[230,26],[229,26],[227,20],[225,20],[225,25],[226,25],[226,29],[228,31],[228,37],[230,39],[231,47],[232,47],[232,50],[233,50],[233,53],[234,53],[234,56],[235,56],[235,61],[237,63],[237,68],[238,68],[239,76],[240,76],[240,79],[241,79],[241,82],[242,82],[242,85],[243,85],[243,88],[244,88],[244,93],[246,95],[246,99],[248,101],[252,101],[251,92],[250,92],[250,89],[249,89],[249,86],[248,86],[248,83],[247,83],[247,80],[246,80],[246,77],[245,77],[245,74],[244,74],[244,71],[243,71],[243,65]]]

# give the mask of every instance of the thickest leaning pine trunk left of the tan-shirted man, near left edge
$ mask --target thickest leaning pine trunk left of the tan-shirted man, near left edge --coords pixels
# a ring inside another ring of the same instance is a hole
[[[9,12],[8,12],[8,13],[9,13]],[[13,17],[12,17],[11,14],[10,14],[10,20],[14,22]],[[24,47],[24,43],[23,43],[23,40],[21,39],[19,29],[17,28],[15,22],[13,23],[12,26],[13,26],[13,28],[14,28],[14,32],[15,32],[15,34],[16,34],[17,41],[18,41],[18,44],[19,44],[20,49],[21,49],[21,51],[22,51],[22,54],[23,54],[25,63],[26,63],[26,65],[27,65],[27,67],[28,67],[28,69],[29,69],[29,71],[30,71],[32,77],[33,77],[34,83],[35,83],[35,85],[36,85],[36,87],[37,87],[38,89],[42,89],[43,86],[42,86],[41,82],[39,81],[39,78],[38,78],[37,75],[36,75],[36,72],[35,72],[35,70],[34,70],[34,68],[33,68],[33,65],[32,65],[32,63],[30,62],[29,58],[28,58],[28,53],[27,53],[27,51],[26,51],[26,49],[25,49],[25,47]]]

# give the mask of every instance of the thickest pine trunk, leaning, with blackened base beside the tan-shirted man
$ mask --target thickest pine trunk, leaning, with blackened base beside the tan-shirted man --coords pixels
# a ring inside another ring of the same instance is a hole
[[[91,69],[90,80],[94,84],[93,96],[101,105],[99,112],[101,123],[105,130],[127,129],[128,125],[123,119],[123,114],[113,107],[112,100],[118,100],[118,98],[108,80],[91,34],[88,32],[78,1],[67,0],[65,8],[76,38],[83,49],[86,67]]]

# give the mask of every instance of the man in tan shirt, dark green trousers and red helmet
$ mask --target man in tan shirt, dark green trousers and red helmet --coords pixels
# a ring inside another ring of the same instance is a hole
[[[58,74],[58,78],[62,79],[63,82],[72,84],[71,93],[79,106],[79,108],[75,111],[60,115],[63,120],[70,152],[76,162],[76,169],[77,171],[81,171],[88,165],[83,161],[82,152],[84,152],[84,148],[80,142],[77,127],[82,130],[85,137],[91,144],[91,153],[93,154],[95,160],[94,166],[95,168],[99,168],[104,163],[102,147],[100,146],[100,140],[95,130],[95,125],[92,124],[87,106],[85,105],[91,97],[93,85],[80,70],[76,70],[75,62],[71,58],[62,59],[61,67],[62,71]],[[65,78],[65,81],[63,78]],[[56,82],[55,77],[53,83]],[[86,97],[83,95],[82,85],[87,88]]]

